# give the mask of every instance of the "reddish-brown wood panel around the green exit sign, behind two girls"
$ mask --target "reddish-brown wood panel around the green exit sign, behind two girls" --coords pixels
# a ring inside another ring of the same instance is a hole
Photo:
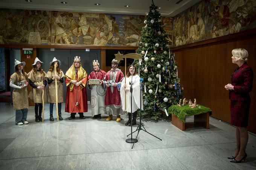
[[[35,61],[35,58],[37,57],[37,49],[36,48],[33,48],[33,54],[30,55],[30,59],[27,58],[27,54],[24,54],[22,48],[20,49],[20,59],[21,59],[21,62],[26,62],[26,65],[24,67],[24,71],[26,73],[29,73],[31,71],[31,69],[33,68],[32,64],[34,63]],[[30,90],[32,89],[31,86],[27,86],[27,92],[29,93]],[[30,106],[34,106],[35,103],[32,102],[32,100],[29,98],[29,105]]]

